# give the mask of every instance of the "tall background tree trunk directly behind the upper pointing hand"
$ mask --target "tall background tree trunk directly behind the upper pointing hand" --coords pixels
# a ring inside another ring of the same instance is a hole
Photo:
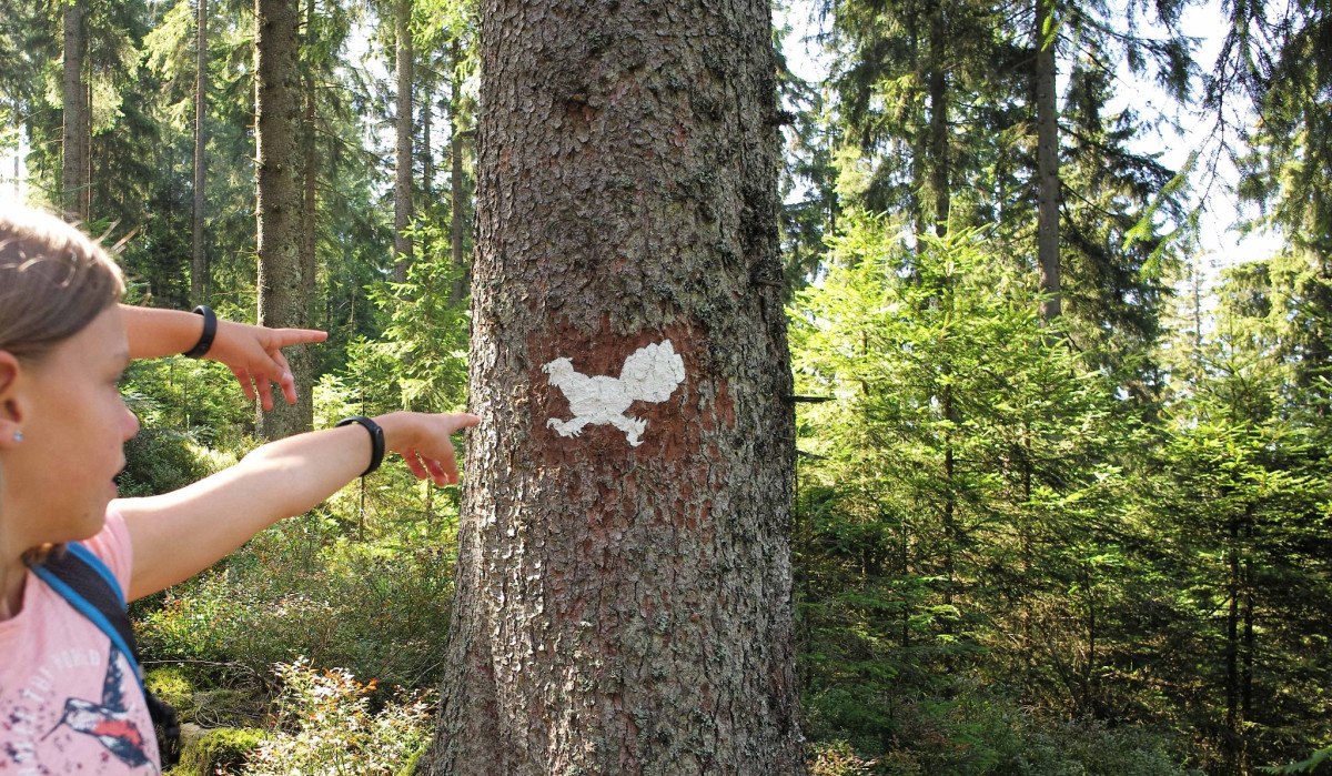
[[[297,0],[254,0],[254,113],[258,219],[258,323],[304,327],[306,300],[301,271],[301,89]],[[261,412],[258,432],[277,439],[310,428],[310,361],[292,348],[288,361],[298,401],[281,399]]]

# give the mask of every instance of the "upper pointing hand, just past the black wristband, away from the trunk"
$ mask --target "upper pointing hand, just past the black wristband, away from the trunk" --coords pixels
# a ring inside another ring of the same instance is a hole
[[[328,332],[316,329],[270,329],[228,320],[217,321],[217,337],[205,359],[225,364],[241,384],[245,397],[273,409],[276,383],[288,404],[296,404],[296,379],[282,348],[322,343]]]

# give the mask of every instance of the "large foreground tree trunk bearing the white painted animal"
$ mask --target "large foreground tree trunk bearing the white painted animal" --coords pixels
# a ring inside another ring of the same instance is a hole
[[[769,4],[481,19],[482,421],[424,769],[802,773]],[[587,389],[649,397],[571,435]]]

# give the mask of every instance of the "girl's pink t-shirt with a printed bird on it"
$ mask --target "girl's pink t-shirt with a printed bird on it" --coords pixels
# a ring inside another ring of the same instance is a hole
[[[129,587],[125,520],[84,541]],[[0,776],[159,773],[157,739],[133,669],[101,631],[32,572],[0,620]]]

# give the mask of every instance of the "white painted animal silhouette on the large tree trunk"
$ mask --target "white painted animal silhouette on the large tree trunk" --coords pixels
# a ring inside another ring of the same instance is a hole
[[[630,445],[638,447],[647,421],[625,412],[634,401],[666,401],[685,380],[685,361],[670,340],[645,345],[625,359],[619,377],[589,377],[574,371],[569,359],[555,359],[542,367],[550,384],[569,399],[570,420],[551,417],[546,425],[561,436],[578,436],[585,425],[609,423],[625,432]]]

